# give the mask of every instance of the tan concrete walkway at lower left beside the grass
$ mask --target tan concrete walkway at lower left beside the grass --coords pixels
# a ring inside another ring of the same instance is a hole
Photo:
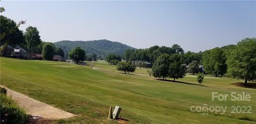
[[[4,87],[6,88],[6,87]],[[45,103],[39,102],[30,98],[26,95],[14,92],[13,90],[7,89],[7,95],[12,95],[12,97],[18,101],[18,104],[25,109],[28,114],[39,115],[40,117],[47,119],[64,119],[75,116],[72,113],[62,111],[60,109],[54,108],[53,106],[47,105]]]

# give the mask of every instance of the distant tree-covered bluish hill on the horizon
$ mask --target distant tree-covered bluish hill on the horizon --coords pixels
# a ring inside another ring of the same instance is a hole
[[[111,42],[110,40],[101,39],[101,40],[91,40],[91,41],[70,41],[62,40],[60,42],[53,43],[56,47],[63,49],[65,53],[65,59],[68,59],[68,53],[71,49],[79,46],[83,48],[86,52],[86,55],[95,53],[98,56],[106,56],[109,53],[114,53],[123,56],[126,49],[135,49],[131,46],[119,42]]]

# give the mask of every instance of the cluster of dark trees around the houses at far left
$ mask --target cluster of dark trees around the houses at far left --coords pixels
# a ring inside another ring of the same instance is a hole
[[[4,11],[1,11],[4,12]],[[1,21],[1,51],[5,48],[10,49],[9,56],[11,56],[11,51],[15,46],[21,46],[23,49],[29,52],[30,59],[32,53],[42,53],[43,59],[53,60],[54,55],[64,56],[64,52],[61,48],[55,47],[52,43],[42,42],[39,35],[39,31],[36,27],[29,26],[26,28],[25,32],[19,30],[21,24],[25,24],[26,21],[20,21],[18,24],[13,20],[0,15]]]

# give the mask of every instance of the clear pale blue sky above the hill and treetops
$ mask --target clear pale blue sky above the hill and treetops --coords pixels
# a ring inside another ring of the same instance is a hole
[[[44,42],[108,39],[185,51],[256,37],[255,1],[2,1],[4,16],[35,26]]]

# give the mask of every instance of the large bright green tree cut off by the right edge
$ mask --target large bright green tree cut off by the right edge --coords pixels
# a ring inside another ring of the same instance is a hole
[[[234,78],[247,81],[256,79],[256,38],[245,38],[238,42],[227,60],[228,73]]]

